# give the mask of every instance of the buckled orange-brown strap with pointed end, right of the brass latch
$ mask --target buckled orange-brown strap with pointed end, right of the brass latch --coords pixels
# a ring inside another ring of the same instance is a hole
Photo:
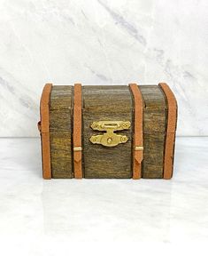
[[[133,149],[133,179],[142,176],[143,161],[143,96],[137,84],[129,84],[135,99],[135,135]]]

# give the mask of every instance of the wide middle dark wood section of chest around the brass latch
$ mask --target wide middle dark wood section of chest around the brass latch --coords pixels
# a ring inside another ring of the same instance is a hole
[[[85,178],[132,177],[132,97],[127,86],[83,87],[83,159]],[[124,144],[108,148],[92,144],[92,135],[103,134],[90,128],[94,121],[129,121],[129,130],[119,131],[127,135]]]

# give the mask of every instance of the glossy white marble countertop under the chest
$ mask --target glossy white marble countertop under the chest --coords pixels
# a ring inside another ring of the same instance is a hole
[[[42,180],[39,139],[0,139],[0,237],[208,241],[207,159],[208,138],[180,137],[172,180]]]

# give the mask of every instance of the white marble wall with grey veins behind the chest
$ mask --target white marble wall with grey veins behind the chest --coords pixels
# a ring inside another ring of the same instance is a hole
[[[208,135],[207,0],[0,0],[0,136],[37,136],[42,86],[158,84]]]

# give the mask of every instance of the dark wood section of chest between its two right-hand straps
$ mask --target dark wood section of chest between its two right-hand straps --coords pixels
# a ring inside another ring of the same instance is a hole
[[[143,178],[163,178],[167,109],[158,85],[140,86],[143,94]]]

